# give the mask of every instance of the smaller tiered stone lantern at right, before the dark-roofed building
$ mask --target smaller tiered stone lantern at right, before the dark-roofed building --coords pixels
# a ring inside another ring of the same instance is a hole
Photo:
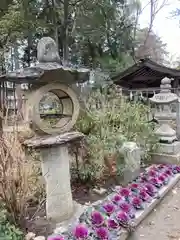
[[[174,118],[170,104],[178,101],[176,94],[171,92],[171,79],[164,78],[161,81],[160,93],[155,94],[150,101],[157,105],[155,114],[159,126],[155,130],[160,140],[158,153],[152,155],[156,163],[177,163],[180,159],[180,142],[177,141],[176,131],[172,129],[170,122]]]

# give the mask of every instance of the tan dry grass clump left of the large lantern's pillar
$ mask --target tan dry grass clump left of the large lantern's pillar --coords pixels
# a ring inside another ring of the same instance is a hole
[[[39,163],[25,155],[18,133],[0,139],[0,199],[15,224],[26,216],[27,202],[39,190]]]

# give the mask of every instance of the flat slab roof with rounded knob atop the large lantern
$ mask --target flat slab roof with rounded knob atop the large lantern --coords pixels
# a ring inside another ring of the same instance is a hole
[[[61,64],[55,41],[50,37],[42,38],[37,46],[38,63],[35,66],[17,69],[0,76],[0,81],[15,84],[45,84],[45,83],[83,83],[89,79],[88,69],[65,67]]]

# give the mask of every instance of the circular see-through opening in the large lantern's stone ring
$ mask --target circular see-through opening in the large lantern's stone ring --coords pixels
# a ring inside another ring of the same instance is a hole
[[[73,102],[61,90],[51,90],[39,102],[40,119],[47,127],[63,128],[72,120]]]

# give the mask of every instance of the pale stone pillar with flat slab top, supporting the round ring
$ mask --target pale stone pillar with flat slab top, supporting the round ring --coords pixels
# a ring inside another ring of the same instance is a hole
[[[58,136],[35,137],[24,142],[27,147],[38,149],[42,161],[42,173],[46,181],[46,214],[55,222],[69,219],[73,214],[70,186],[68,152],[69,143],[80,140],[84,135],[68,132]]]

